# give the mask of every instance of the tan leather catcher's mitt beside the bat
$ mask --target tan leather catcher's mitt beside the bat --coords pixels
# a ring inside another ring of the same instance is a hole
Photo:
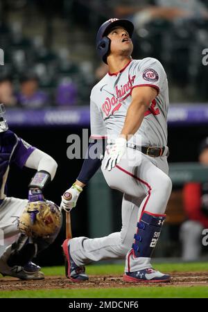
[[[61,226],[61,212],[54,202],[49,200],[28,202],[19,217],[19,231],[27,236],[50,236]]]

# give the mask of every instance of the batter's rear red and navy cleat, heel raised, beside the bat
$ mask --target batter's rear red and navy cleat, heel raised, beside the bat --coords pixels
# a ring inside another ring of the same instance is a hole
[[[76,283],[80,281],[87,281],[89,277],[87,274],[85,274],[85,266],[77,266],[71,258],[69,241],[70,239],[65,239],[64,243],[62,244],[67,263],[66,277]]]

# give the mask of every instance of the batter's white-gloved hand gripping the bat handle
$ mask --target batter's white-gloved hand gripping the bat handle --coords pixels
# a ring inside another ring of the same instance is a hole
[[[62,195],[62,202],[60,204],[60,208],[69,212],[73,207],[76,207],[76,202],[80,193],[83,191],[83,188],[73,183],[70,189],[64,192]]]

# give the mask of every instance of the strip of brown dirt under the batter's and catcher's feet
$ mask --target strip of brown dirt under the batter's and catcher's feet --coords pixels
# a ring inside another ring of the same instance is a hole
[[[21,281],[15,277],[0,278],[0,291],[20,291],[31,289],[63,289],[63,288],[124,288],[141,286],[208,286],[207,272],[172,272],[170,283],[127,283],[122,276],[97,275],[90,276],[89,281],[73,283],[63,276],[47,276],[42,280]]]

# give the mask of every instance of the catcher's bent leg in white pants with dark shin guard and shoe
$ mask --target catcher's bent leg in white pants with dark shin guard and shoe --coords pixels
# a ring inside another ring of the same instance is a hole
[[[3,275],[19,277],[20,279],[43,279],[44,274],[40,272],[40,266],[36,266],[31,260],[37,253],[53,243],[60,229],[47,239],[28,238],[24,234],[19,234],[17,220],[27,203],[28,200],[6,198],[1,206],[0,228],[5,236],[4,248],[6,250],[0,258],[0,272]],[[10,237],[14,237],[15,240],[10,241]]]

